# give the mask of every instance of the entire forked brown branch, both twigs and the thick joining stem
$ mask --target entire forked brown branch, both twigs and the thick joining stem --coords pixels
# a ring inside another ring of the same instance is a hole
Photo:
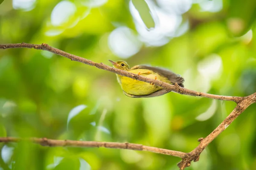
[[[38,143],[44,146],[68,146],[68,147],[106,147],[106,148],[116,148],[116,149],[130,149],[130,150],[144,150],[154,153],[160,153],[170,156],[177,156],[180,157],[182,160],[178,163],[178,167],[180,170],[183,170],[186,167],[189,167],[191,161],[198,161],[199,156],[202,151],[211,143],[221,132],[223,132],[247,107],[251,104],[256,102],[256,93],[251,94],[250,96],[246,97],[238,97],[238,96],[221,96],[221,95],[214,95],[214,94],[207,94],[197,91],[192,91],[186,88],[182,88],[179,85],[170,85],[165,82],[161,82],[155,79],[148,79],[138,74],[133,74],[127,71],[119,70],[117,68],[110,67],[103,63],[93,62],[89,59],[85,59],[73,54],[69,54],[65,51],[61,51],[57,48],[53,48],[45,43],[43,44],[28,44],[28,43],[18,43],[18,44],[0,44],[0,49],[7,49],[7,48],[35,48],[38,50],[45,50],[52,52],[54,54],[69,58],[74,61],[82,62],[87,65],[95,66],[97,68],[111,71],[113,73],[130,77],[132,79],[137,79],[143,82],[154,83],[160,87],[166,88],[167,91],[175,91],[179,94],[185,94],[189,96],[201,96],[207,97],[211,99],[218,99],[218,100],[227,100],[236,102],[236,108],[227,116],[226,119],[218,126],[215,130],[212,131],[206,138],[198,139],[200,144],[194,150],[189,153],[183,153],[175,150],[167,150],[157,147],[149,147],[144,146],[141,144],[132,144],[132,143],[118,143],[118,142],[95,142],[95,141],[70,141],[70,140],[53,140],[53,139],[46,139],[46,138],[31,138],[31,139],[20,139],[20,138],[13,138],[13,137],[2,137],[0,138],[0,142],[19,142],[20,140],[29,140],[34,143]]]

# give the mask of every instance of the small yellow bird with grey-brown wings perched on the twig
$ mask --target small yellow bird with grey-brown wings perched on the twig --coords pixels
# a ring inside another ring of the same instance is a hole
[[[119,60],[113,62],[109,60],[114,68],[120,70],[128,71],[130,73],[139,74],[141,76],[157,79],[162,82],[169,83],[174,85],[177,83],[180,87],[184,87],[184,79],[179,74],[175,74],[172,71],[169,71],[164,68],[152,67],[148,65],[135,65],[130,68],[127,62]],[[123,93],[128,97],[142,98],[142,97],[155,97],[161,96],[163,94],[169,93],[165,88],[154,85],[152,83],[143,82],[140,80],[132,79],[129,77],[121,76],[116,74],[117,81],[120,84]]]

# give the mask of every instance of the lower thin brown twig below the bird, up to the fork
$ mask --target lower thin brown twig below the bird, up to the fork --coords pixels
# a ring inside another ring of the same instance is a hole
[[[128,149],[128,150],[143,150],[148,152],[160,153],[164,155],[176,156],[179,158],[186,157],[186,153],[175,150],[162,149],[158,147],[144,146],[142,144],[134,143],[119,143],[119,142],[96,142],[96,141],[73,141],[73,140],[54,140],[47,138],[29,138],[21,139],[15,137],[0,137],[0,142],[20,142],[22,140],[30,141],[42,146],[50,147],[105,147],[115,149]]]

